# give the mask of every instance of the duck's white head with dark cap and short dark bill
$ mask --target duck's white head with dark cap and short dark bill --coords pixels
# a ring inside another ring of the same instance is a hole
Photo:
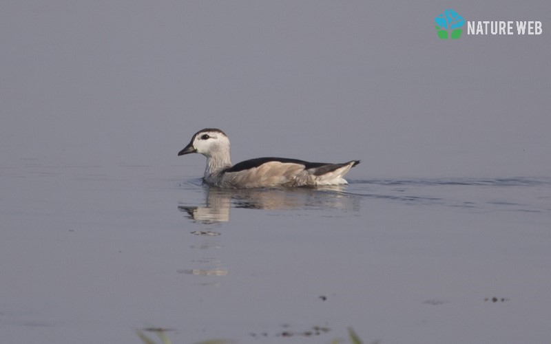
[[[207,158],[229,160],[229,138],[220,129],[202,129],[196,132],[191,142],[178,152],[178,156],[189,153],[201,153]]]

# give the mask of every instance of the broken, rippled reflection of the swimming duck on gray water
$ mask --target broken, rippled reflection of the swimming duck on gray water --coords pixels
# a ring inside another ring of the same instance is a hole
[[[194,186],[196,188],[196,186]],[[190,246],[200,256],[190,262],[193,268],[178,270],[186,275],[208,278],[205,286],[218,286],[222,276],[229,271],[223,264],[223,245],[218,231],[212,230],[217,224],[229,222],[231,208],[264,209],[280,211],[337,210],[359,211],[360,196],[346,193],[346,186],[323,186],[316,188],[281,189],[219,189],[202,185],[205,205],[191,205],[180,202],[178,209],[198,224],[198,230],[191,234],[200,239],[200,245]],[[196,189],[195,189],[196,190]],[[325,215],[325,213],[324,213]],[[207,256],[205,256],[207,254]]]

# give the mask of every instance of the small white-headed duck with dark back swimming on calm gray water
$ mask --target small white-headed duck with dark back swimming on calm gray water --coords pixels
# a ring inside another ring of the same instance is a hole
[[[289,158],[256,158],[232,165],[229,138],[220,129],[196,132],[178,156],[189,153],[207,157],[205,183],[226,189],[348,184],[342,177],[360,164],[360,160],[329,164]]]

